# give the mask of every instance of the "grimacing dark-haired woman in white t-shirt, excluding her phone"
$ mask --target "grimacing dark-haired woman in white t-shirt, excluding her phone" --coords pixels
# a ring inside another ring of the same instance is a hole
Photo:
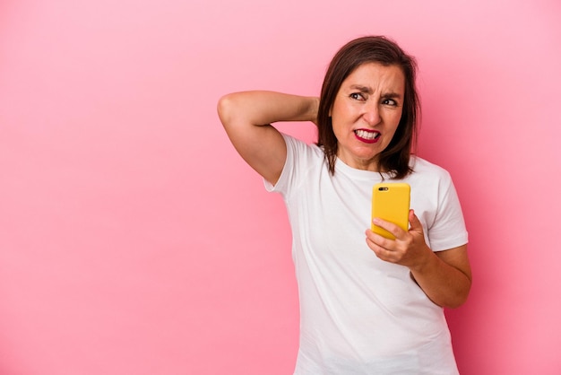
[[[300,297],[295,374],[456,374],[444,307],[467,299],[467,231],[449,174],[411,155],[416,65],[393,41],[350,41],[319,99],[237,92],[219,115],[237,152],[286,203]],[[317,144],[280,134],[312,121]],[[411,187],[410,229],[379,218],[375,183]],[[365,231],[366,229],[366,231]]]

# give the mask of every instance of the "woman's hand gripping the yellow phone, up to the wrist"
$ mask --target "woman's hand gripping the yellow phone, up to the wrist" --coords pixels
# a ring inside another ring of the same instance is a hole
[[[375,218],[372,222],[395,236],[395,240],[390,240],[367,230],[367,245],[375,252],[376,257],[414,270],[421,268],[434,256],[425,242],[423,227],[413,210],[409,213],[409,231],[403,231],[393,222],[386,222],[380,218]]]

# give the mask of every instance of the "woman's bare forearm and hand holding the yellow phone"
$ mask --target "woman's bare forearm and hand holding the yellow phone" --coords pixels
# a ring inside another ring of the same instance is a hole
[[[467,300],[471,287],[467,245],[433,252],[428,248],[421,223],[412,210],[409,231],[403,231],[392,222],[379,220],[375,224],[396,237],[396,240],[388,240],[367,230],[368,247],[377,257],[408,266],[423,292],[439,306],[456,308]]]

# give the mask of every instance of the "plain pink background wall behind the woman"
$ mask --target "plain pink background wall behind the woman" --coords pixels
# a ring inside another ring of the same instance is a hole
[[[557,0],[1,2],[0,373],[291,373],[287,217],[216,102],[318,94],[365,34],[418,57],[419,153],[462,199],[462,374],[560,373]]]

